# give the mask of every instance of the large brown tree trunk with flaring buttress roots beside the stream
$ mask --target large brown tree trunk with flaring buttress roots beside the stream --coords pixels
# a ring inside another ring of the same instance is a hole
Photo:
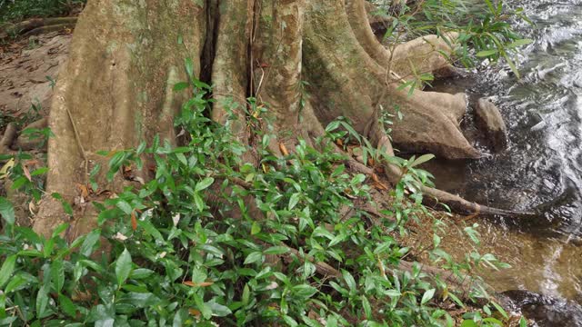
[[[55,89],[47,193],[73,201],[75,185],[87,183],[95,164],[106,166],[99,150],[134,147],[155,134],[175,142],[173,117],[186,94],[173,86],[186,81],[186,58],[196,77],[215,86],[217,122],[226,121],[228,103],[238,104],[233,127],[245,144],[245,99],[256,96],[287,148],[297,137],[311,142],[343,115],[391,149],[382,126],[371,124],[381,106],[404,114],[392,134],[399,148],[476,158],[458,124],[464,94],[397,90],[413,72],[447,70],[440,54],[452,52],[447,44],[427,36],[388,51],[371,33],[364,0],[89,0]],[[114,192],[125,183],[103,175],[98,182]],[[59,208],[46,197],[35,230],[50,233],[63,222]],[[90,212],[75,218],[77,233],[92,225]]]

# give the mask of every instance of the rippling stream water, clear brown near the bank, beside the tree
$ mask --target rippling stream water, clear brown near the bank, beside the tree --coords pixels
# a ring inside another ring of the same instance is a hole
[[[438,187],[477,203],[539,213],[485,222],[483,252],[514,267],[484,276],[487,282],[500,291],[528,290],[582,304],[582,1],[506,3],[525,8],[536,24],[517,24],[534,40],[517,58],[522,79],[500,65],[436,87],[491,96],[507,124],[507,150],[428,169]],[[566,325],[582,326],[580,317],[582,312]]]

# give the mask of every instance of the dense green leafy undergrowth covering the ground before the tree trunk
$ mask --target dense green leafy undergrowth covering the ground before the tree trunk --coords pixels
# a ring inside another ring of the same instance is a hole
[[[391,158],[406,175],[391,191],[392,206],[373,217],[356,205],[372,202],[366,176],[348,172],[331,146],[337,138],[362,141],[345,121],[327,127],[320,150],[299,142],[285,157],[268,151],[274,135],[258,134],[256,167],[239,159],[246,148],[233,141],[231,122],[207,118],[209,87],[176,84],[176,91],[186,88],[193,95],[176,118],[185,145],[156,137],[104,153],[111,158],[102,167],[109,179],[146,169],[142,158],[156,169],[141,187],[95,201],[98,225],[91,233],[67,242],[63,224],[46,239],[15,225],[14,208],[0,198],[0,325],[454,325],[441,304],[470,303],[420,264],[398,270],[410,249],[390,235],[406,237],[406,222],[427,214],[416,190],[430,176],[416,165],[429,157]],[[10,178],[35,189],[19,164]],[[98,169],[89,183],[95,193]],[[453,263],[439,240],[436,234],[431,255],[453,272],[499,266],[475,253]],[[97,255],[103,245],[108,251]],[[324,275],[316,263],[339,274]],[[476,288],[472,297],[488,295]],[[467,312],[463,326],[503,325],[507,318],[493,302]]]

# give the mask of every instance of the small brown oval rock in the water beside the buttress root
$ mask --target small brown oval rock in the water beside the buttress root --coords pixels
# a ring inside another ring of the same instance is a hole
[[[500,152],[507,147],[507,127],[495,104],[485,98],[479,99],[475,120],[489,148]]]

